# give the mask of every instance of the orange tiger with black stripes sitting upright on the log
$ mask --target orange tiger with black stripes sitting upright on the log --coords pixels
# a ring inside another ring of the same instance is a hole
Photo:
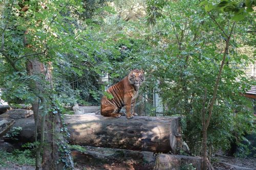
[[[144,71],[134,69],[120,82],[106,90],[107,93],[113,95],[113,98],[108,99],[105,95],[102,97],[100,104],[101,115],[119,118],[121,115],[125,115],[120,112],[121,108],[124,107],[127,119],[137,116],[138,114],[134,112],[134,108],[139,88],[144,80]]]

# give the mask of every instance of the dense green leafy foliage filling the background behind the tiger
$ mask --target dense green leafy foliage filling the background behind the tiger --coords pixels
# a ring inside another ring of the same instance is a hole
[[[31,6],[34,1],[27,3]],[[23,13],[18,2],[3,2],[3,52],[18,70],[0,55],[0,87],[6,89],[2,97],[9,103],[30,103],[34,98],[28,83],[37,78],[26,73],[26,61],[34,56],[30,54],[53,63],[51,95],[63,106],[99,104],[105,74],[115,83],[129,70],[142,68],[146,82],[141,93],[158,89],[164,115],[186,116],[184,139],[193,154],[200,155],[204,89],[209,101],[225,47],[222,31],[228,32],[237,21],[207,140],[212,152],[227,150],[231,141],[241,143],[244,134],[254,130],[251,101],[241,94],[255,81],[237,69],[255,62],[253,53],[245,52],[255,44],[253,3],[42,1]],[[88,6],[93,6],[91,11]],[[25,35],[33,47],[29,51]]]

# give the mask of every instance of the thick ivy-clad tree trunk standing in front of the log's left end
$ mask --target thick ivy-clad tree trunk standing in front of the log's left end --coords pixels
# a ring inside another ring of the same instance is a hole
[[[58,134],[58,140],[63,142],[64,139],[60,133],[60,117],[53,117],[53,113],[49,112],[49,107],[51,105],[51,100],[48,100],[49,97],[45,94],[46,89],[51,89],[51,86],[48,87],[46,82],[49,82],[51,85],[51,70],[50,63],[48,66],[41,63],[37,58],[32,58],[27,62],[27,71],[30,76],[37,76],[40,81],[32,80],[30,82],[30,88],[40,99],[35,99],[32,102],[32,108],[34,112],[34,120],[36,130],[34,134],[37,134],[37,129],[40,127],[41,138],[40,144],[36,152],[36,169],[40,167],[40,153],[42,147],[44,151],[42,154],[42,169],[62,169],[62,163],[59,162],[59,153],[57,142],[54,142],[54,135]],[[39,105],[42,106],[42,109],[39,109]],[[54,127],[55,126],[55,127]],[[43,134],[43,135],[42,135]],[[45,142],[46,141],[46,142]],[[58,163],[59,162],[59,163]]]

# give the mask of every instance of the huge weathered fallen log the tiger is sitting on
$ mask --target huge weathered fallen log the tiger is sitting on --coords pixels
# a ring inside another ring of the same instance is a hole
[[[71,144],[162,153],[177,153],[181,148],[179,117],[135,116],[132,119],[101,115],[66,115]],[[33,118],[15,119],[22,127],[20,139],[34,137]],[[33,140],[33,139],[32,139]]]

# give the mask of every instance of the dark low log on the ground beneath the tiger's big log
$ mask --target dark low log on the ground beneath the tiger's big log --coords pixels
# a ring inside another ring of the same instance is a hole
[[[100,147],[82,147],[72,149],[72,157],[75,163],[97,165],[99,169],[153,169],[156,156],[147,151],[131,151],[123,149],[111,149]],[[118,167],[118,168],[117,168]]]

